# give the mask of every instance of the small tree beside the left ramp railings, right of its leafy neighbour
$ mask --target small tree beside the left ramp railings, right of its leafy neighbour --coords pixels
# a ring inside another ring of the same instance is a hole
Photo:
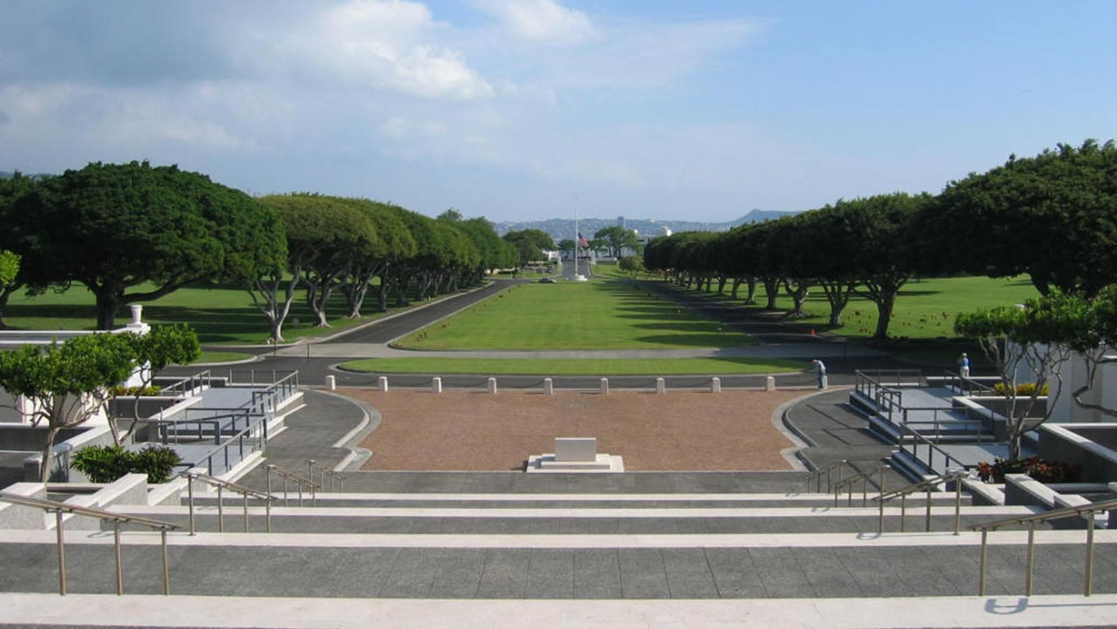
[[[155,379],[155,372],[170,364],[189,364],[201,355],[198,335],[187,325],[160,325],[147,334],[122,334],[128,344],[132,360],[140,366],[142,384],[136,387],[132,404],[132,421],[121,430],[117,418],[109,416],[108,426],[113,430],[113,441],[123,445],[135,432],[140,422],[140,398]]]

